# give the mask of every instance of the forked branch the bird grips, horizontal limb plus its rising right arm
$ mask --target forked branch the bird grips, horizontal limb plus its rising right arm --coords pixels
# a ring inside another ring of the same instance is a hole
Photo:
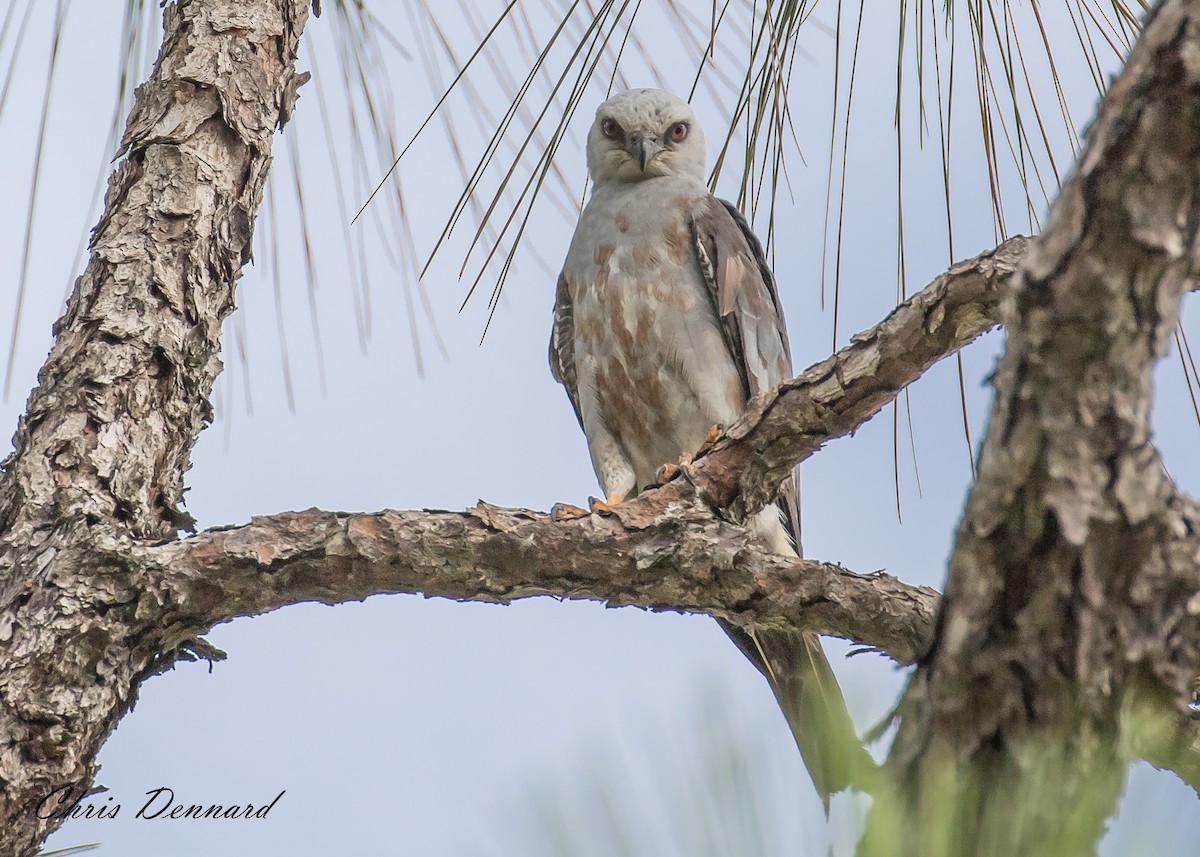
[[[809,455],[994,326],[1003,286],[1027,245],[1014,238],[954,265],[833,358],[787,382],[754,412],[766,420],[743,420],[689,468],[709,489],[728,486],[704,499],[737,496],[737,472],[724,484],[712,477],[727,474],[732,461],[748,467],[743,484],[767,490],[778,474],[757,467],[757,447],[772,445],[768,433],[790,455]],[[383,592],[500,601],[557,594],[701,611],[736,624],[782,623],[866,643],[908,664],[924,651],[936,604],[934,591],[887,575],[764,555],[740,528],[697,504],[688,480],[646,492],[612,516],[570,522],[486,504],[464,514],[312,510],[256,519],[138,556],[142,586],[170,605],[163,611],[180,639],[302,600]]]

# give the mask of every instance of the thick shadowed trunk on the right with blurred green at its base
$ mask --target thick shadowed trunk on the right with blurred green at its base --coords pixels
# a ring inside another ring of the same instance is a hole
[[[1146,676],[1181,711],[1200,667],[1198,520],[1148,426],[1200,258],[1198,56],[1200,4],[1160,2],[1021,268],[868,853],[1094,853],[1129,761],[1120,713]]]

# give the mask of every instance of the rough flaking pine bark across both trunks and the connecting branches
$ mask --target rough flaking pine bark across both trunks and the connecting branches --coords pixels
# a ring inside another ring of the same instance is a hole
[[[1134,754],[1196,784],[1182,700],[1200,651],[1200,522],[1146,439],[1150,365],[1196,262],[1196,6],[1164,4],[1037,251],[1018,239],[956,265],[763,397],[683,478],[604,516],[484,503],[311,510],[181,540],[221,319],[271,134],[304,82],[306,2],[169,6],[88,269],[0,479],[0,857],[34,853],[58,825],[38,804],[91,784],[140,682],[203,648],[198,635],[234,616],[378,592],[702,611],[922,660],[871,853],[985,853],[985,840],[1038,853],[1024,846],[1057,841],[1045,808],[1062,802],[1037,790],[1042,805],[1002,798],[1042,755],[1056,783],[1099,777],[1094,793],[1067,792],[1079,799],[1062,827],[1087,843]],[[763,555],[737,522],[796,462],[994,326],[1022,263],[980,480],[924,657],[936,593]],[[884,843],[884,822],[913,810],[938,835]]]

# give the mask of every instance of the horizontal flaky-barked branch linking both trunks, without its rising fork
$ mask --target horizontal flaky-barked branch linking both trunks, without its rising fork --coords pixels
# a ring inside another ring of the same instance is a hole
[[[646,527],[601,515],[556,522],[485,503],[466,513],[284,513],[134,557],[140,581],[125,595],[151,601],[180,640],[299,601],[420,593],[506,604],[551,594],[786,624],[911,664],[938,599],[890,575],[761,551],[695,503]]]

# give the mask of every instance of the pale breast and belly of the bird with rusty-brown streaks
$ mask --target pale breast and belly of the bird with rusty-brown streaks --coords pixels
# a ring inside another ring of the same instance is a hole
[[[641,487],[732,422],[743,390],[692,251],[696,196],[634,190],[593,198],[563,274],[584,428],[618,438]]]

